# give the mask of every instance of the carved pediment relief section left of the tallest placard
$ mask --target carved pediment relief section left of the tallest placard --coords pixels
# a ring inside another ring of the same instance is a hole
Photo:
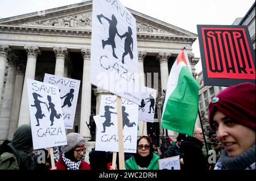
[[[33,24],[40,26],[55,26],[55,27],[91,27],[92,26],[92,14],[70,14],[67,16],[51,19],[39,19],[36,22],[26,22],[24,24]]]

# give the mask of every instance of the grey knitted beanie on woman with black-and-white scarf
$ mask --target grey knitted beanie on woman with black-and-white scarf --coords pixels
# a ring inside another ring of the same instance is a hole
[[[67,145],[62,147],[64,153],[75,149],[77,146],[85,145],[85,139],[79,133],[69,133],[67,135]]]

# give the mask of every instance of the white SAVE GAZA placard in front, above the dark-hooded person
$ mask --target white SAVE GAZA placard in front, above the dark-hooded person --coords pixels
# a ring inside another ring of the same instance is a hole
[[[67,145],[59,87],[27,78],[34,149]]]

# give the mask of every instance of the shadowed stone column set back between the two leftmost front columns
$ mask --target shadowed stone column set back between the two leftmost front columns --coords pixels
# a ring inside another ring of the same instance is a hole
[[[8,131],[8,140],[11,140],[13,138],[13,134],[16,128],[18,127],[19,111],[17,110],[20,109],[25,69],[26,67],[24,64],[19,64],[17,66],[16,78],[14,83],[13,103],[11,106],[11,117],[10,117],[9,131]]]

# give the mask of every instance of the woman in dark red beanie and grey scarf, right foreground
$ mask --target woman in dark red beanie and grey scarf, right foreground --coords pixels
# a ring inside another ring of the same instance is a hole
[[[209,124],[225,149],[214,170],[255,170],[255,85],[219,92],[209,104]]]

